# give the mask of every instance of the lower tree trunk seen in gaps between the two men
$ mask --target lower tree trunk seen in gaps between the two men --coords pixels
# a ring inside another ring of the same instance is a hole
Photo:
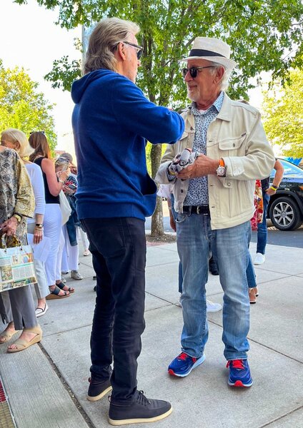
[[[155,178],[157,170],[160,166],[160,161],[162,158],[162,145],[156,144],[152,146],[151,151],[151,163],[152,163],[152,178]],[[163,236],[164,227],[163,227],[163,210],[162,210],[162,198],[157,197],[156,210],[152,215],[152,236]]]

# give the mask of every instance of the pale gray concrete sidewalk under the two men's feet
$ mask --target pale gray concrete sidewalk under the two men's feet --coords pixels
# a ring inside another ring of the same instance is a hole
[[[255,251],[253,243],[251,251]],[[138,427],[303,426],[302,260],[303,249],[267,245],[267,260],[256,268],[259,297],[257,305],[251,305],[249,331],[254,384],[242,390],[227,386],[222,312],[209,314],[204,364],[187,378],[169,377],[167,365],[179,353],[182,329],[177,247],[147,248],[146,330],[138,387],[147,397],[171,401],[174,412],[162,422]],[[7,354],[6,345],[0,347],[0,385],[18,428],[109,427],[107,398],[86,400],[95,282],[91,255],[81,256],[80,262],[84,280],[67,281],[76,287],[74,295],[48,301],[49,311],[39,319],[44,332],[41,343],[16,354]],[[222,303],[218,277],[209,275],[207,296]],[[1,417],[0,428],[11,426]]]

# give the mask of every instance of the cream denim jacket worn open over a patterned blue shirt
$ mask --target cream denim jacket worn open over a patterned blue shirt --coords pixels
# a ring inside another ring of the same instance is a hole
[[[174,209],[178,213],[183,213],[189,180],[169,181],[167,167],[184,148],[192,148],[194,141],[194,115],[190,107],[182,117],[185,122],[182,138],[167,145],[155,178],[157,183],[174,184]],[[227,168],[226,177],[208,175],[212,230],[250,220],[254,214],[254,182],[268,177],[274,167],[274,152],[265,136],[259,111],[232,101],[224,93],[222,108],[207,131],[207,156],[218,161],[223,158]]]

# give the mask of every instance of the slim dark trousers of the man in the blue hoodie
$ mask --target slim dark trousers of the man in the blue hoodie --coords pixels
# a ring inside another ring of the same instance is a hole
[[[114,360],[111,402],[127,405],[136,395],[136,360],[145,327],[144,220],[87,218],[81,223],[96,272],[91,377],[108,379]]]

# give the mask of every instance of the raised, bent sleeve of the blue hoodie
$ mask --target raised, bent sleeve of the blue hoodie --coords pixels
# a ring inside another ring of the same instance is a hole
[[[184,121],[178,113],[156,106],[124,76],[115,79],[111,108],[121,126],[152,144],[175,143],[184,131]]]

